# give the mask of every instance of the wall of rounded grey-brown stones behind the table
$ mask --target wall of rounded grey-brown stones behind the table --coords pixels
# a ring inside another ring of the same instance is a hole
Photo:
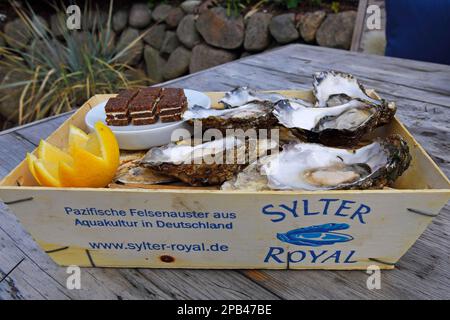
[[[200,3],[187,0],[175,7],[163,3],[153,10],[147,3],[118,8],[112,19],[116,47],[125,48],[145,33],[126,59],[161,82],[293,42],[348,50],[356,19],[355,11],[275,16],[256,12],[244,19],[228,17],[221,7],[199,12]],[[57,33],[55,21],[53,15],[48,24]],[[5,32],[17,31],[8,24]]]

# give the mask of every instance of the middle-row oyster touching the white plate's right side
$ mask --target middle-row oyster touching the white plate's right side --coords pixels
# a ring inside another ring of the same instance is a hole
[[[202,129],[269,129],[277,123],[272,114],[273,104],[268,102],[250,102],[240,107],[213,109],[194,106],[183,113],[183,119],[191,125],[201,121]]]

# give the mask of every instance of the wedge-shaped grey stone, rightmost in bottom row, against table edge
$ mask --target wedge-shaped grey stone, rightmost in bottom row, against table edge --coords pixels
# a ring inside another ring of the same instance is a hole
[[[238,56],[230,51],[216,49],[206,44],[199,44],[192,50],[190,73],[208,69],[237,59]]]

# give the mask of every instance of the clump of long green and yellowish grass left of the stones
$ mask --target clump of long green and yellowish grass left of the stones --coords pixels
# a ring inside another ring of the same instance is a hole
[[[146,77],[135,78],[136,70],[125,60],[143,35],[117,49],[111,30],[112,6],[111,0],[106,24],[99,10],[92,13],[85,7],[83,15],[93,23],[92,32],[68,30],[63,16],[59,21],[63,41],[39,21],[31,6],[26,11],[14,7],[32,40],[23,49],[0,47],[4,75],[0,104],[8,110],[6,116],[2,112],[7,120],[24,124],[72,110],[94,94],[148,83]]]

